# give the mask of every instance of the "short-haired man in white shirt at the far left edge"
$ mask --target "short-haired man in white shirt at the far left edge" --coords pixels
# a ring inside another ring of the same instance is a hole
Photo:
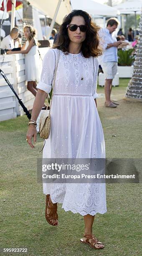
[[[18,38],[18,35],[19,35],[18,28],[13,28],[10,32],[10,35],[5,36],[3,38],[3,41],[1,43],[1,48],[8,49],[8,50],[12,50],[13,48],[15,48],[14,39]]]

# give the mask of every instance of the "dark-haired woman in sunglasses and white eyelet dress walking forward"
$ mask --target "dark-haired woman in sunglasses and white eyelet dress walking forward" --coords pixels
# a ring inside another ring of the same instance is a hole
[[[47,93],[51,91],[58,62],[51,132],[43,148],[43,158],[105,158],[104,134],[96,108],[97,56],[102,53],[98,30],[88,13],[74,10],[64,18],[54,49],[49,49],[44,57],[26,138],[33,148],[36,120]],[[104,183],[43,183],[43,193],[46,194],[49,224],[58,225],[57,203],[62,203],[65,211],[84,216],[85,231],[81,242],[95,249],[104,248],[92,234],[94,215],[106,212]]]

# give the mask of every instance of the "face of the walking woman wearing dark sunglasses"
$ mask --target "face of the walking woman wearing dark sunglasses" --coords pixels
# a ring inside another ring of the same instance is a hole
[[[85,20],[82,16],[74,16],[71,20],[71,24],[76,24],[76,25],[86,25]],[[68,37],[71,42],[76,43],[76,44],[81,44],[85,38],[86,38],[86,32],[80,31],[80,28],[78,27],[76,31],[70,31],[68,28]]]

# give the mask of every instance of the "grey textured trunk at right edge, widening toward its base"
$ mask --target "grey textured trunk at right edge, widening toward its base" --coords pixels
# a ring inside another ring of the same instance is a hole
[[[134,61],[134,72],[129,81],[125,97],[142,100],[142,15],[139,22],[139,38]]]

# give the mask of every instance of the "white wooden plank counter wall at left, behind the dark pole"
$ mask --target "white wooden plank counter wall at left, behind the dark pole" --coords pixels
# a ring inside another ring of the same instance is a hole
[[[42,58],[48,49],[49,48],[39,49]],[[35,97],[27,90],[24,54],[0,55],[0,69],[3,70],[6,77],[13,85],[14,90],[25,107],[28,110],[32,109]],[[0,74],[0,121],[15,118],[17,115],[23,114],[23,108],[19,105],[17,98]]]

